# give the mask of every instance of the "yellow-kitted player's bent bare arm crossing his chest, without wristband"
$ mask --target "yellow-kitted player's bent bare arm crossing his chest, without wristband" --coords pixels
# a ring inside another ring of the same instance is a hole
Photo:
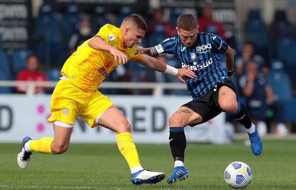
[[[92,38],[88,42],[88,45],[95,50],[110,52],[114,56],[115,61],[117,61],[117,59],[118,59],[119,64],[127,63],[127,57],[123,52],[117,50],[113,46],[110,46],[99,36]]]

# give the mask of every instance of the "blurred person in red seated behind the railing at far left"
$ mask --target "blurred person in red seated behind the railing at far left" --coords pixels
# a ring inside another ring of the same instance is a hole
[[[45,74],[39,70],[39,61],[37,56],[31,55],[26,60],[26,69],[21,70],[17,75],[17,81],[47,81]],[[44,90],[42,87],[36,87],[35,93],[40,93]],[[16,87],[19,93],[27,91],[26,85],[19,85]]]

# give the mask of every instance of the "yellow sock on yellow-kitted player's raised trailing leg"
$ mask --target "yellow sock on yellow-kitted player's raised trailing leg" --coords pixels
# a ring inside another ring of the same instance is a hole
[[[50,148],[52,141],[53,141],[52,137],[43,137],[43,138],[40,138],[39,140],[32,140],[29,143],[29,148],[31,151],[52,154],[51,148]]]

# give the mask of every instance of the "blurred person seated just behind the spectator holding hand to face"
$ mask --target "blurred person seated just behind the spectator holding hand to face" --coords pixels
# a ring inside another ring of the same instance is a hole
[[[247,65],[250,62],[255,62],[260,73],[267,75],[269,73],[269,68],[263,57],[259,55],[254,55],[254,45],[250,42],[246,42],[242,48],[242,56],[238,57],[235,62],[235,72],[238,76],[242,75],[246,70]]]

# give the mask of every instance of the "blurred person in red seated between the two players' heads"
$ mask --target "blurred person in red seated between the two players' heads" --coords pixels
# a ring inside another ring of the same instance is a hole
[[[177,31],[173,25],[168,22],[164,22],[164,12],[161,8],[156,9],[153,13],[153,21],[149,23],[147,35],[151,36],[155,31],[156,25],[163,25],[164,32],[167,37],[176,36]]]

